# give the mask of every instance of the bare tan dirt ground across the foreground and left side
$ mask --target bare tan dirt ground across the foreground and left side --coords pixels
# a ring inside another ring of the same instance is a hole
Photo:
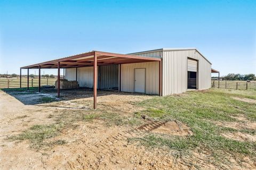
[[[82,95],[83,94],[83,95]],[[33,94],[34,95],[34,94]],[[53,94],[47,94],[51,96]],[[66,94],[62,94],[65,96]],[[150,122],[138,126],[106,126],[102,120],[77,121],[76,128],[67,128],[51,140],[65,140],[64,145],[48,149],[33,149],[28,140],[10,141],[8,137],[20,134],[36,124],[51,124],[60,114],[67,112],[91,114],[92,96],[87,91],[76,98],[66,96],[61,101],[39,104],[37,96],[15,96],[0,90],[0,169],[216,169],[209,162],[207,150],[181,159],[159,149],[148,149],[130,138],[142,137],[149,132],[174,135],[191,135],[186,125],[179,122]],[[153,96],[120,92],[99,92],[98,109],[129,115],[143,108],[134,106]],[[18,100],[19,99],[19,100]],[[122,116],[123,116],[122,115]],[[234,160],[231,169],[253,169],[240,166]],[[227,166],[227,168],[230,168]]]

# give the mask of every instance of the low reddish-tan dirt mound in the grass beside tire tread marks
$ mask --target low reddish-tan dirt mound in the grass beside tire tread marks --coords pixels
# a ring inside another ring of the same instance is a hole
[[[166,122],[159,128],[154,129],[152,132],[182,136],[192,134],[186,125],[180,122],[178,123],[177,121]]]

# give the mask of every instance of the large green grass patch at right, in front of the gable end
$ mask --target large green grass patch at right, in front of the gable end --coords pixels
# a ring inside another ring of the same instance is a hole
[[[191,128],[193,135],[188,137],[150,134],[139,138],[148,147],[169,148],[188,152],[198,148],[210,150],[212,154],[227,152],[236,156],[250,156],[255,160],[256,142],[236,141],[223,137],[225,132],[255,134],[255,130],[225,128],[214,124],[218,122],[239,122],[235,116],[244,116],[256,121],[256,105],[235,100],[231,97],[254,99],[256,91],[210,89],[190,91],[185,95],[155,97],[139,103],[145,107],[146,114],[155,120],[178,120]],[[137,113],[138,114],[138,113]]]

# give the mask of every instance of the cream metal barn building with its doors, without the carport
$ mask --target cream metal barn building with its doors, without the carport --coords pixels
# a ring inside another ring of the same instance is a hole
[[[166,96],[211,87],[211,63],[195,48],[162,48],[129,55],[162,58],[162,65],[153,61],[98,66],[98,89]],[[93,67],[79,67],[77,75],[76,68],[66,69],[67,80],[76,80],[76,76],[80,87],[93,88]]]

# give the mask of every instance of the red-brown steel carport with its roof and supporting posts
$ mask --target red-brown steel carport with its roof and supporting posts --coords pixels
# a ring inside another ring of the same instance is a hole
[[[112,64],[129,64],[129,63],[142,63],[142,62],[159,62],[159,95],[161,96],[161,77],[162,77],[162,60],[161,58],[155,57],[142,57],[142,56],[134,56],[134,55],[125,55],[125,54],[116,54],[116,53],[107,53],[107,52],[99,52],[92,51],[88,53],[78,54],[74,56],[69,56],[65,58],[60,58],[58,60],[52,60],[48,62],[28,65],[20,68],[28,70],[28,80],[29,80],[29,69],[39,69],[39,88],[38,92],[41,91],[40,77],[41,77],[41,69],[58,69],[58,97],[60,97],[60,69],[66,68],[78,68],[78,67],[87,67],[93,66],[93,108],[97,108],[97,66],[100,65],[112,65]],[[77,71],[76,71],[77,73]],[[77,75],[77,74],[76,74]],[[21,74],[20,74],[21,76]],[[77,76],[76,76],[77,77]],[[76,78],[77,81],[77,78]],[[20,82],[21,84],[21,82]],[[29,84],[29,83],[28,83]],[[119,69],[119,90],[121,87],[121,69]],[[29,86],[27,87],[29,89]]]

